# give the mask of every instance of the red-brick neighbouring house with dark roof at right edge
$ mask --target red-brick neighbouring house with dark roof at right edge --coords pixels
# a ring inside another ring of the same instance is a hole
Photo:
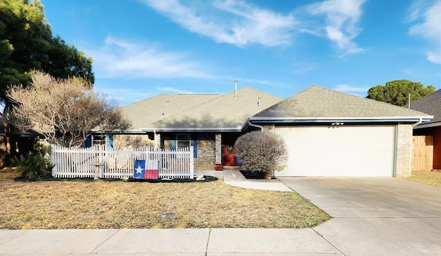
[[[429,115],[433,115],[430,121],[424,121],[422,124],[413,128],[413,135],[433,136],[433,169],[441,169],[441,90],[426,95],[421,99],[411,102],[410,108],[418,110]],[[405,106],[408,107],[408,106]]]

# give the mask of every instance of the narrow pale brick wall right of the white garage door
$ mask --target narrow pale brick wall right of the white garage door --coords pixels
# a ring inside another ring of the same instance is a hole
[[[396,149],[396,177],[409,177],[412,166],[411,124],[398,124]]]

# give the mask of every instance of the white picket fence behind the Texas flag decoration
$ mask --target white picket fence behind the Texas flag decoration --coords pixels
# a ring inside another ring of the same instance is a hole
[[[183,150],[161,150],[150,147],[134,150],[114,150],[103,145],[93,148],[63,148],[52,145],[52,176],[59,178],[94,177],[99,163],[99,177],[119,179],[133,177],[136,159],[158,161],[159,178],[193,179],[193,147]]]

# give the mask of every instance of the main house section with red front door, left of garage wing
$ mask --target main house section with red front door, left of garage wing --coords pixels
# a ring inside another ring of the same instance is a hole
[[[196,170],[237,166],[233,145],[250,129],[247,119],[280,100],[252,88],[225,95],[157,95],[121,107],[132,121],[130,130],[107,138],[95,135],[94,139],[114,148],[194,146]]]

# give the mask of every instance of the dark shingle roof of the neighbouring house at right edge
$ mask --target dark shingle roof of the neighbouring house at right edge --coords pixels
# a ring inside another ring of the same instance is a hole
[[[433,115],[433,119],[424,124],[441,122],[441,90],[411,102],[411,109]]]

